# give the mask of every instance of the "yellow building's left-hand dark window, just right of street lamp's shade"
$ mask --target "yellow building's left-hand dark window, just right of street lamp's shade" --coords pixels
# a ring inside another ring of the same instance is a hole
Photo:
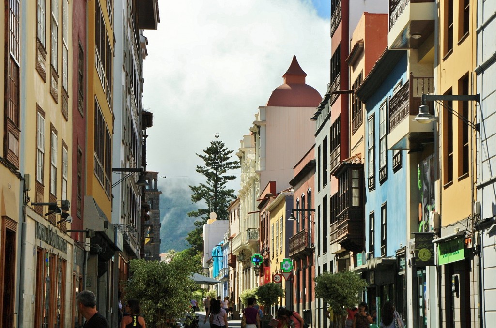
[[[451,95],[451,89],[448,90],[445,95]],[[453,111],[448,110],[453,108],[452,101],[444,101],[444,106],[442,107],[443,112],[443,178],[444,185],[453,181]]]

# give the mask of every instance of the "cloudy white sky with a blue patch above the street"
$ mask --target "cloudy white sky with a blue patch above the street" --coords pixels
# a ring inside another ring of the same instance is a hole
[[[283,84],[293,55],[307,84],[325,93],[329,7],[330,0],[159,0],[158,30],[144,32],[143,64],[143,107],[153,113],[146,169],[166,176],[159,189],[170,196],[203,182],[195,154],[216,133],[236,160],[240,140]],[[236,193],[239,183],[230,185]]]

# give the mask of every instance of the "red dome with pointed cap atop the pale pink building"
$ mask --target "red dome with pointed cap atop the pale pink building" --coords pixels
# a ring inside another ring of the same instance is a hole
[[[271,107],[317,107],[322,96],[305,83],[307,73],[303,71],[293,56],[293,61],[283,75],[284,84],[278,86],[267,102]]]

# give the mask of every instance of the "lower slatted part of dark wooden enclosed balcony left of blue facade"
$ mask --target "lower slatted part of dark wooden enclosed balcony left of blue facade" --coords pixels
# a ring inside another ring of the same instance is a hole
[[[338,243],[354,253],[360,253],[364,250],[364,226],[363,209],[347,208],[331,223],[329,241],[331,244]]]

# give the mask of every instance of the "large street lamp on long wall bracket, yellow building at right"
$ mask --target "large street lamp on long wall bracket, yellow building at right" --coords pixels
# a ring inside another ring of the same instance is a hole
[[[476,130],[477,132],[480,132],[480,124],[479,123],[472,123],[469,121],[467,118],[463,117],[453,109],[445,106],[444,104],[441,103],[441,101],[476,101],[479,103],[479,106],[481,105],[481,95],[476,94],[476,95],[422,95],[422,105],[419,107],[419,113],[415,118],[413,119],[416,122],[427,124],[436,119],[436,116],[431,114],[429,112],[429,106],[427,105],[427,102],[429,101],[434,101],[440,104],[441,106],[445,107],[448,109],[451,113],[453,113],[456,117],[458,117],[460,120],[462,120],[465,124]]]

